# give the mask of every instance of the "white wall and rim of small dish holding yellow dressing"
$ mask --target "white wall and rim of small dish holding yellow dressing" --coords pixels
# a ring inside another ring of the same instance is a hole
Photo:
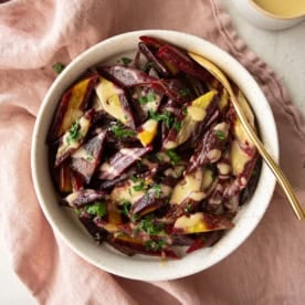
[[[265,30],[284,30],[305,20],[304,12],[286,17],[275,15],[263,10],[252,0],[232,0],[232,2],[246,20]]]

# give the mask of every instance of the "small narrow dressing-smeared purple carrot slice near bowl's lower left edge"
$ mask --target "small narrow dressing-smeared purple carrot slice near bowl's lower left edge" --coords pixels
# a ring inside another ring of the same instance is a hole
[[[105,191],[84,189],[70,193],[61,201],[61,203],[64,206],[70,206],[72,208],[83,208],[94,201],[106,200],[107,197],[107,192]]]

